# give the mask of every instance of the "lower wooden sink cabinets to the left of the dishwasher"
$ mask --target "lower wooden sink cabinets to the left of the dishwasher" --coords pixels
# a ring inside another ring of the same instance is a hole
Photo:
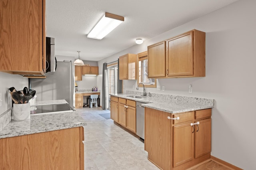
[[[110,97],[110,117],[116,123],[136,133],[136,101]]]

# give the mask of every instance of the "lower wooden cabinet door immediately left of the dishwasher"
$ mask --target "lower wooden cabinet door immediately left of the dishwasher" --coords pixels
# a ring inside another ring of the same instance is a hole
[[[126,128],[136,133],[136,108],[128,106],[126,109],[126,120]]]

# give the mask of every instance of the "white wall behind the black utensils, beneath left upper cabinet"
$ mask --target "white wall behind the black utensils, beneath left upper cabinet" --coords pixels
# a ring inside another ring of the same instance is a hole
[[[16,90],[22,90],[24,87],[28,87],[28,78],[24,78],[21,75],[0,72],[0,93],[2,93],[0,115],[12,107],[12,99],[9,92],[10,87],[15,87]]]

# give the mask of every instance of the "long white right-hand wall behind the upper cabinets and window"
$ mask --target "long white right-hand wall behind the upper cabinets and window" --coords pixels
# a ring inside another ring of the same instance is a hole
[[[206,77],[158,79],[165,91],[146,90],[214,99],[212,156],[246,170],[256,169],[255,7],[255,0],[240,0],[103,59],[98,65],[126,53],[146,51],[148,45],[192,29],[206,32]],[[98,87],[101,84],[98,79]],[[188,93],[189,84],[193,93]],[[124,81],[125,90],[132,85],[136,81]]]

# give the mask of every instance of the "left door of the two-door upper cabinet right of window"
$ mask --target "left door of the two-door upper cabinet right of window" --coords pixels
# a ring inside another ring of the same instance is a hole
[[[148,46],[148,77],[165,77],[165,41]]]

